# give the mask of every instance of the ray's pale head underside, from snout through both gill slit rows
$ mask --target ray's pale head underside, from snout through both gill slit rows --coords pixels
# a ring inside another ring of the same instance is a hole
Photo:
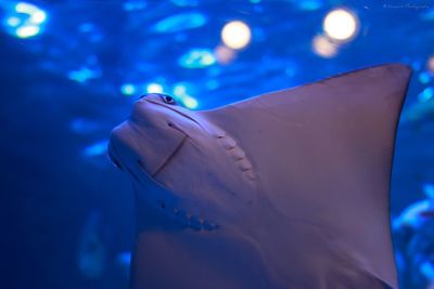
[[[129,120],[113,130],[108,154],[132,176],[139,201],[183,224],[213,227],[251,201],[243,193],[251,194],[245,185],[252,180],[228,153],[240,153],[233,146],[200,111],[153,93],[137,101]]]

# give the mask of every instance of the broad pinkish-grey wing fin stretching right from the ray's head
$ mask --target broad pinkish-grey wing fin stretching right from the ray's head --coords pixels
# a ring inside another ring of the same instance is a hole
[[[202,111],[244,149],[276,211],[318,225],[392,287],[390,179],[410,74],[381,65]]]

